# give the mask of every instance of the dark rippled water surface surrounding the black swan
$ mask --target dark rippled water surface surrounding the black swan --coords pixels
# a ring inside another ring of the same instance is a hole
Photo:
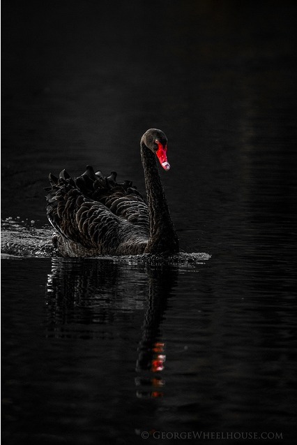
[[[3,443],[291,444],[295,3],[2,3]],[[56,258],[48,173],[144,192],[150,127],[196,255]]]

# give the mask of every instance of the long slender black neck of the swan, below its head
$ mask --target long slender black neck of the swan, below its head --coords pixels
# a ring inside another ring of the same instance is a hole
[[[170,217],[155,154],[142,142],[141,155],[150,219],[150,238],[146,252],[154,254],[178,252],[178,238]]]

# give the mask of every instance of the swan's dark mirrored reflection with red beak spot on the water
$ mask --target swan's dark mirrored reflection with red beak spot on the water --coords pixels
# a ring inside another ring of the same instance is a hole
[[[111,325],[120,325],[121,317],[131,317],[129,326],[137,328],[133,317],[139,310],[144,312],[137,328],[136,394],[162,397],[166,345],[161,326],[177,275],[177,268],[167,263],[128,265],[112,259],[52,258],[45,295],[47,336],[106,338],[114,332]]]

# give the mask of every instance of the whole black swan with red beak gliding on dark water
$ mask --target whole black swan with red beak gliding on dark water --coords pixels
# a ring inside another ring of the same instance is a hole
[[[165,170],[167,137],[149,129],[140,141],[146,204],[131,181],[116,183],[116,172],[104,177],[91,166],[75,178],[62,170],[50,173],[47,218],[61,256],[175,254],[178,238],[162,187],[156,159]]]

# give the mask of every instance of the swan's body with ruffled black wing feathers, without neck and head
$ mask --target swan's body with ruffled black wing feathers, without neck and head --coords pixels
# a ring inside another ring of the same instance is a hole
[[[50,174],[47,217],[62,256],[141,254],[149,236],[148,207],[131,181],[116,182],[91,166],[73,179]]]

